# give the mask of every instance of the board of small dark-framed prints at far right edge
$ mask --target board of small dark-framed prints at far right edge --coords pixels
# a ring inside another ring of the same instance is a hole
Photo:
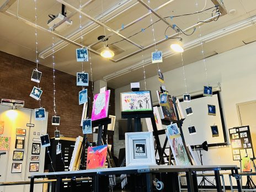
[[[229,129],[234,161],[241,161],[243,157],[254,158],[252,138],[249,126]]]

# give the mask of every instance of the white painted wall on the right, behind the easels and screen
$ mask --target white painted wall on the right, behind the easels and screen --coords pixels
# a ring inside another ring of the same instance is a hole
[[[239,126],[236,104],[256,99],[255,50],[256,42],[253,42],[222,54],[206,58],[209,84],[211,86],[217,86],[218,82],[221,83],[221,100],[227,129]],[[184,55],[185,54],[186,52],[184,52]],[[172,65],[172,63],[169,65]],[[171,95],[182,95],[185,93],[182,67],[165,72],[163,75],[165,86]],[[188,92],[192,93],[202,90],[203,86],[206,84],[204,62],[201,60],[186,65],[185,77]],[[143,85],[143,81],[140,83]],[[152,91],[153,102],[156,102],[156,90],[158,90],[160,86],[157,76],[147,78],[146,84],[147,90]],[[115,111],[117,119],[121,118],[120,93],[130,90],[129,86],[130,85],[115,89]],[[116,140],[116,138],[118,139],[118,137],[115,137],[114,139]],[[254,146],[254,148],[255,147],[256,146]],[[117,151],[117,149],[115,151]],[[203,163],[205,165],[239,164],[239,162],[232,160],[231,147],[212,148],[208,152],[204,152]]]

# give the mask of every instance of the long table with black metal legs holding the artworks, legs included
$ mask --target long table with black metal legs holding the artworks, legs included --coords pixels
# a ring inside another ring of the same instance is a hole
[[[63,178],[71,178],[73,182],[76,182],[76,178],[79,177],[92,177],[93,178],[93,190],[94,192],[102,191],[100,186],[100,179],[107,178],[108,175],[115,174],[143,174],[146,176],[146,189],[147,192],[153,191],[153,174],[164,173],[167,174],[168,180],[175,182],[178,181],[178,173],[186,173],[186,181],[188,184],[188,191],[198,191],[198,182],[196,178],[196,172],[212,170],[215,174],[216,188],[218,192],[221,192],[221,178],[220,170],[231,170],[232,175],[238,173],[238,168],[235,165],[227,166],[133,166],[133,167],[117,167],[117,168],[103,168],[103,169],[91,169],[91,170],[77,170],[70,172],[55,172],[55,173],[31,173],[30,192],[34,189],[35,178],[56,178],[56,191],[60,191],[60,183]],[[71,180],[71,191],[72,191]],[[172,185],[177,183],[172,183]],[[237,180],[238,191],[241,192],[241,185]],[[106,186],[104,186],[106,187]],[[74,190],[73,190],[74,191]]]

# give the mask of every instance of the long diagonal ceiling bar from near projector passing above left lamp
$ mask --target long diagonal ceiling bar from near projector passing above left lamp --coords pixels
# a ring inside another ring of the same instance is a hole
[[[72,9],[76,10],[77,12],[81,13],[82,15],[84,15],[85,17],[87,17],[88,19],[92,20],[94,23],[97,23],[98,25],[103,26],[104,28],[108,29],[108,30],[111,31],[112,33],[114,33],[114,34],[120,36],[122,39],[124,39],[124,40],[130,42],[132,45],[135,45],[136,47],[138,47],[138,48],[140,48],[140,49],[143,49],[143,46],[136,44],[136,42],[131,41],[130,39],[127,39],[124,35],[121,35],[120,33],[116,32],[114,29],[111,29],[109,26],[106,26],[104,23],[99,22],[98,20],[94,19],[93,17],[90,17],[90,15],[88,15],[88,14],[82,12],[81,10],[79,10],[79,9],[77,9],[76,7],[72,6],[71,4],[69,4],[69,3],[67,3],[67,2],[65,2],[65,1],[63,1],[63,0],[56,0],[56,1],[59,2],[59,3],[61,3],[61,4],[64,4],[64,5],[67,6],[67,7],[70,7],[70,8],[72,8]]]

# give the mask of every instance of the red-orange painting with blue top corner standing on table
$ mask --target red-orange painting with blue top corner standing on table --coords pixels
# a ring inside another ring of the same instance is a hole
[[[106,152],[108,145],[88,147],[87,169],[103,168],[106,162]]]

